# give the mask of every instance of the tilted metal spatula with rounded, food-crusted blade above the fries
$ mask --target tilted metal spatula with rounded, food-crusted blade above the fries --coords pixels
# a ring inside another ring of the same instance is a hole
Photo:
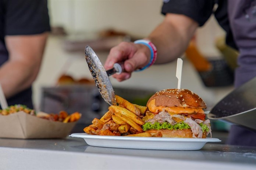
[[[122,72],[120,64],[115,63],[114,68],[106,71],[96,53],[88,45],[85,47],[85,59],[103,99],[110,105],[116,105],[115,93],[109,80],[109,76]]]

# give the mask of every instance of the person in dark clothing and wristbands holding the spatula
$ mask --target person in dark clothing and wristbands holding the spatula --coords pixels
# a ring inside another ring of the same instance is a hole
[[[130,78],[135,70],[177,59],[212,14],[227,33],[227,45],[239,51],[235,87],[256,77],[256,0],[164,0],[162,14],[164,21],[147,38],[111,48],[104,67],[124,61],[125,72],[113,75],[118,81]],[[250,139],[242,139],[241,132]],[[228,143],[256,146],[256,132],[233,126]]]

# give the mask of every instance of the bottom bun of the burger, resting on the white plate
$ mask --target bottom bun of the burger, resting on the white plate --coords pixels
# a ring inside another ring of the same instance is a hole
[[[181,137],[181,138],[193,138],[191,129],[182,130],[168,130],[168,129],[150,129],[149,132],[153,137]],[[206,138],[206,132],[203,133],[202,138]]]

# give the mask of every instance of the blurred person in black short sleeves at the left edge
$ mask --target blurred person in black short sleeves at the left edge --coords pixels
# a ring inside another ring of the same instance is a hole
[[[0,84],[9,106],[33,108],[31,85],[49,31],[47,0],[0,0]]]

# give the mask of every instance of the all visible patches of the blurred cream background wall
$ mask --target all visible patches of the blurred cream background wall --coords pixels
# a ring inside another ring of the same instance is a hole
[[[161,0],[48,0],[52,26],[64,26],[68,33],[96,32],[113,27],[133,36],[145,37],[156,27],[164,16],[160,14]],[[214,38],[223,36],[223,30],[211,18],[197,33],[197,44],[203,55],[219,56],[214,47]],[[102,63],[106,53],[98,53]],[[62,48],[60,37],[50,36],[47,42],[43,64],[37,80],[34,83],[33,100],[38,107],[40,103],[40,88],[54,85],[62,71],[74,77],[90,77],[84,53],[67,53]],[[134,73],[132,78],[117,82],[111,78],[115,86],[143,87],[148,89],[176,88],[176,63],[152,66],[140,73]],[[191,89],[200,95],[212,107],[226,95],[232,87],[206,88],[203,86],[193,66],[184,60],[182,88]]]

